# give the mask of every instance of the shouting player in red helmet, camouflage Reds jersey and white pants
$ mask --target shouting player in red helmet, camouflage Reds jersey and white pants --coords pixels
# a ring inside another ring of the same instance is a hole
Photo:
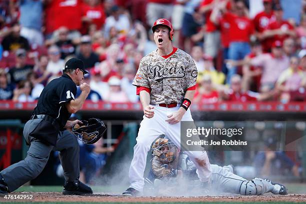
[[[130,186],[122,194],[139,194],[144,185],[143,172],[150,144],[167,134],[180,145],[180,121],[193,121],[189,105],[195,92],[196,66],[191,56],[173,47],[173,28],[161,18],[152,26],[157,50],[144,56],[133,80],[143,108],[133,159],[129,168]],[[206,151],[186,151],[195,163],[200,181],[208,182],[211,168]]]

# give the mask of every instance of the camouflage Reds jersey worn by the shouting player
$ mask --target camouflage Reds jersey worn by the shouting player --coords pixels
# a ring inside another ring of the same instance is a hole
[[[140,60],[133,85],[151,88],[150,104],[181,103],[185,90],[196,84],[197,70],[191,56],[177,49],[168,58],[156,50]]]

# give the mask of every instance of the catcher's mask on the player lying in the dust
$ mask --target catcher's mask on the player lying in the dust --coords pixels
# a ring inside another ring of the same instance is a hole
[[[169,163],[176,157],[177,147],[166,135],[160,135],[152,144],[152,154],[163,163]]]

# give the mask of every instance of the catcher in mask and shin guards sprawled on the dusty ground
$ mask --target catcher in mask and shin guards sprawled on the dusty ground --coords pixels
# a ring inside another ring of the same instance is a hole
[[[186,154],[180,152],[180,149],[164,134],[161,134],[153,142],[151,152],[153,155],[152,166],[145,181],[154,189],[162,189],[161,192],[165,194],[164,187],[160,188],[161,186],[165,186],[165,184],[173,186],[172,189],[169,189],[171,192],[177,192],[177,185],[180,182],[185,183],[183,180],[187,180],[189,184],[188,186],[184,185],[183,190],[186,190],[186,187],[194,187],[198,184],[199,187],[203,187],[202,189],[208,190],[208,193],[213,189],[214,191],[241,195],[261,195],[266,192],[280,195],[287,194],[287,188],[280,183],[262,178],[247,180],[234,174],[232,165],[221,167],[211,164],[212,176],[209,186],[201,186],[194,163]],[[157,193],[160,194],[160,192]]]

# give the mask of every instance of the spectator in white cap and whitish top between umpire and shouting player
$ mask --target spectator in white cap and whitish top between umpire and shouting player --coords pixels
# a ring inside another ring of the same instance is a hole
[[[129,102],[126,93],[121,89],[121,81],[118,77],[112,76],[108,80],[109,92],[105,98],[108,102]]]

